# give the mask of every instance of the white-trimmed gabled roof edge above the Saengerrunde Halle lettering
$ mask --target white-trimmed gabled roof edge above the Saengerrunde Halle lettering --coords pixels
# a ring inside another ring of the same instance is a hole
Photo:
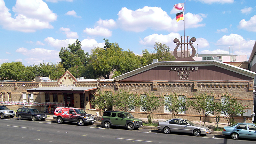
[[[244,68],[239,68],[227,63],[223,63],[216,60],[203,60],[203,61],[163,61],[163,62],[155,62],[152,64],[149,64],[147,66],[135,69],[133,71],[130,71],[128,73],[125,73],[120,76],[116,76],[114,79],[116,81],[121,81],[125,78],[143,73],[145,71],[148,71],[150,69],[156,68],[156,67],[188,67],[188,66],[217,66],[219,68],[223,68],[244,76],[248,76],[251,78],[254,78],[256,76],[255,72],[246,70]]]

